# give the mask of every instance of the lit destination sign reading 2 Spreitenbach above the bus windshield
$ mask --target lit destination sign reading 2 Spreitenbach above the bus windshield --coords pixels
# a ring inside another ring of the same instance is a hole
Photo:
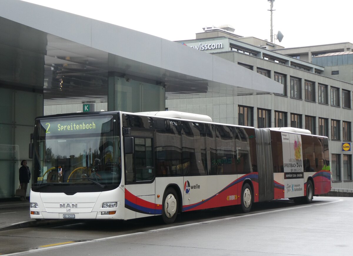
[[[112,116],[90,118],[66,118],[66,120],[47,119],[40,123],[41,134],[46,136],[89,134],[109,132]]]

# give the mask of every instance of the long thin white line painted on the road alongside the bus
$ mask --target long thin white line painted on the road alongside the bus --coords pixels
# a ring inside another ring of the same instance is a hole
[[[56,248],[61,248],[61,247],[65,247],[65,246],[73,246],[73,245],[78,245],[78,244],[87,244],[87,243],[99,242],[99,241],[104,241],[104,240],[109,240],[109,239],[114,239],[114,238],[129,237],[131,235],[147,234],[147,233],[164,231],[164,230],[169,230],[169,229],[174,229],[174,228],[183,228],[183,227],[200,225],[200,224],[204,224],[204,223],[212,223],[212,222],[217,222],[217,221],[224,221],[224,220],[232,220],[232,219],[238,219],[238,218],[252,217],[252,216],[257,216],[257,215],[261,215],[261,214],[276,213],[276,212],[280,212],[280,211],[289,211],[289,210],[294,210],[294,209],[307,208],[307,207],[312,207],[312,206],[320,206],[320,205],[338,203],[338,202],[343,201],[343,199],[339,199],[339,198],[335,198],[335,199],[336,199],[336,201],[331,201],[331,202],[326,202],[326,203],[308,204],[308,205],[296,206],[296,207],[291,207],[291,208],[286,208],[286,209],[278,209],[278,210],[273,210],[273,211],[264,211],[262,213],[246,214],[246,215],[228,217],[228,218],[217,219],[217,220],[195,222],[195,223],[184,224],[184,225],[173,226],[173,227],[151,229],[151,230],[144,231],[144,232],[136,232],[136,233],[132,233],[132,234],[115,235],[113,237],[103,237],[103,238],[98,238],[98,239],[93,239],[93,240],[88,240],[88,241],[81,241],[81,242],[70,243],[70,244],[55,245],[55,246],[48,247],[48,248],[36,248],[36,249],[28,250],[28,251],[15,252],[15,253],[12,253],[12,254],[4,254],[4,255],[1,255],[1,256],[20,255],[20,254],[38,252],[38,251],[43,251],[43,250],[56,249]],[[19,223],[22,223],[22,222],[19,222]]]

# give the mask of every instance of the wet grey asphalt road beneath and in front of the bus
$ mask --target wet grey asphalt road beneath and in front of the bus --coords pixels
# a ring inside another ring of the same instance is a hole
[[[11,255],[352,255],[353,198],[315,197],[183,213],[174,225],[134,221],[61,222],[0,231]]]

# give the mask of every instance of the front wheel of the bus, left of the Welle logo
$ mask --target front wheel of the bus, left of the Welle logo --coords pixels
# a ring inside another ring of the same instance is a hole
[[[162,220],[165,224],[172,224],[177,219],[179,201],[174,188],[167,188],[163,196]]]

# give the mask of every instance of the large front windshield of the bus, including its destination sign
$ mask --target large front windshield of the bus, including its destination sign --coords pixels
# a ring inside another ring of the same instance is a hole
[[[116,188],[121,181],[119,144],[117,116],[36,120],[32,190],[47,191],[49,185],[53,192]]]

